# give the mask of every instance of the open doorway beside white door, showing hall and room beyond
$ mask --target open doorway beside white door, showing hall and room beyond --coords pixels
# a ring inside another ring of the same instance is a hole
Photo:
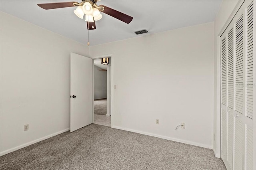
[[[111,127],[111,58],[108,64],[102,64],[102,59],[93,62],[93,123]]]

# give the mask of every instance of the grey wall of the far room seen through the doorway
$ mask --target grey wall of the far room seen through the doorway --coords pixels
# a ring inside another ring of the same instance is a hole
[[[107,71],[94,65],[94,100],[107,98]]]

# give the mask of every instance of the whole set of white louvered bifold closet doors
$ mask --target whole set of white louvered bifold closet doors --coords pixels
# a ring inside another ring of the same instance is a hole
[[[221,158],[228,170],[253,167],[253,114],[256,102],[255,9],[242,6],[221,38]]]

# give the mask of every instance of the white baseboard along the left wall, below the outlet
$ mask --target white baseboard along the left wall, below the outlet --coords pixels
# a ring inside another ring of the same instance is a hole
[[[52,136],[56,136],[56,135],[58,135],[58,134],[61,134],[61,133],[63,133],[63,132],[66,132],[66,131],[68,131],[68,130],[70,130],[70,128],[67,128],[67,129],[65,129],[65,130],[61,130],[61,131],[59,131],[59,132],[50,134],[50,135],[48,135],[48,136],[44,136],[44,137],[42,137],[42,138],[33,140],[33,141],[31,141],[31,142],[22,144],[22,145],[20,145],[20,146],[16,146],[16,147],[14,147],[14,148],[11,148],[11,149],[8,149],[8,150],[4,150],[4,151],[0,152],[0,156],[3,156],[3,155],[5,155],[5,154],[8,154],[8,153],[13,152],[13,151],[15,151],[15,150],[19,150],[19,149],[21,149],[21,148],[25,148],[26,146],[29,146],[29,145],[32,145],[32,144],[34,144],[34,143],[40,142],[40,141],[42,141],[42,140],[48,139],[48,138],[50,138],[50,137],[52,137]]]

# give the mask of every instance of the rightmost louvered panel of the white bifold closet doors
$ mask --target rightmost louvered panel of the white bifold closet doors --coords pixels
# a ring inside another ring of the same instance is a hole
[[[250,2],[250,4],[246,4],[246,40],[245,40],[245,46],[246,46],[246,107],[245,107],[245,157],[244,157],[244,169],[245,170],[252,170],[253,169],[253,2]],[[255,160],[254,160],[255,161]],[[256,168],[255,168],[256,169]]]

